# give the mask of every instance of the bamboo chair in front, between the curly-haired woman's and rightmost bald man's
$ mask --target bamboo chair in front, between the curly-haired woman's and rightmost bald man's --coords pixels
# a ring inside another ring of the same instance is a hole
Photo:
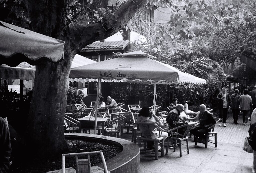
[[[196,122],[184,124],[184,125],[181,125],[181,126],[178,126],[178,127],[168,130],[168,132],[171,132],[171,133],[169,134],[168,139],[167,139],[167,146],[166,146],[165,154],[168,154],[168,150],[171,148],[173,148],[173,152],[176,151],[177,141],[179,143],[179,146],[178,146],[179,147],[179,157],[182,157],[182,153],[186,152],[186,151],[187,151],[187,154],[189,154],[187,134],[189,133],[190,129],[193,127],[194,124],[196,124]],[[187,126],[187,129],[186,129],[185,133],[183,135],[179,134],[178,129],[186,127],[186,126]],[[176,136],[172,136],[172,135],[176,135]],[[182,144],[182,141],[186,141],[186,144]],[[171,146],[169,146],[170,144],[171,144]],[[182,151],[182,145],[186,145],[187,149]]]

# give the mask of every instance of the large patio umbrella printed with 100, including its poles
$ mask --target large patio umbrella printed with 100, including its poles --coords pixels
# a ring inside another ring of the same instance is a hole
[[[206,83],[206,80],[184,73],[162,62],[150,59],[155,58],[141,51],[122,54],[120,58],[101,61],[72,68],[69,78],[73,81],[113,81],[136,82],[154,84],[154,101],[156,104],[156,84],[172,83]],[[100,84],[98,84],[97,101],[99,99]],[[96,104],[96,113],[97,113]],[[97,116],[95,116],[97,120]],[[95,120],[95,127],[97,121]]]

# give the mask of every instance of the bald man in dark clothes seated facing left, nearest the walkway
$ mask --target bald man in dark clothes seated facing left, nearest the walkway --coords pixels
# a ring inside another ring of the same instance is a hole
[[[199,124],[196,127],[191,128],[190,133],[194,136],[199,137],[198,142],[205,142],[205,137],[210,130],[208,129],[210,126],[216,123],[214,116],[212,113],[206,110],[206,106],[201,104],[199,107]]]

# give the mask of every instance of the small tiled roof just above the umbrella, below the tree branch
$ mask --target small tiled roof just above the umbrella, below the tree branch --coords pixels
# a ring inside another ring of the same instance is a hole
[[[129,40],[94,42],[84,47],[81,51],[122,50],[129,42]]]

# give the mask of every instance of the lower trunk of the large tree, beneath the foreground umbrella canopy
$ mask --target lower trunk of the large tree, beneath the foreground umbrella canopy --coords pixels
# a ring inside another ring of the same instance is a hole
[[[67,148],[63,119],[67,104],[68,75],[74,54],[65,47],[65,57],[58,64],[42,62],[36,77],[30,106],[27,142],[42,155]],[[68,58],[70,57],[70,58]],[[35,150],[33,150],[35,151]]]

